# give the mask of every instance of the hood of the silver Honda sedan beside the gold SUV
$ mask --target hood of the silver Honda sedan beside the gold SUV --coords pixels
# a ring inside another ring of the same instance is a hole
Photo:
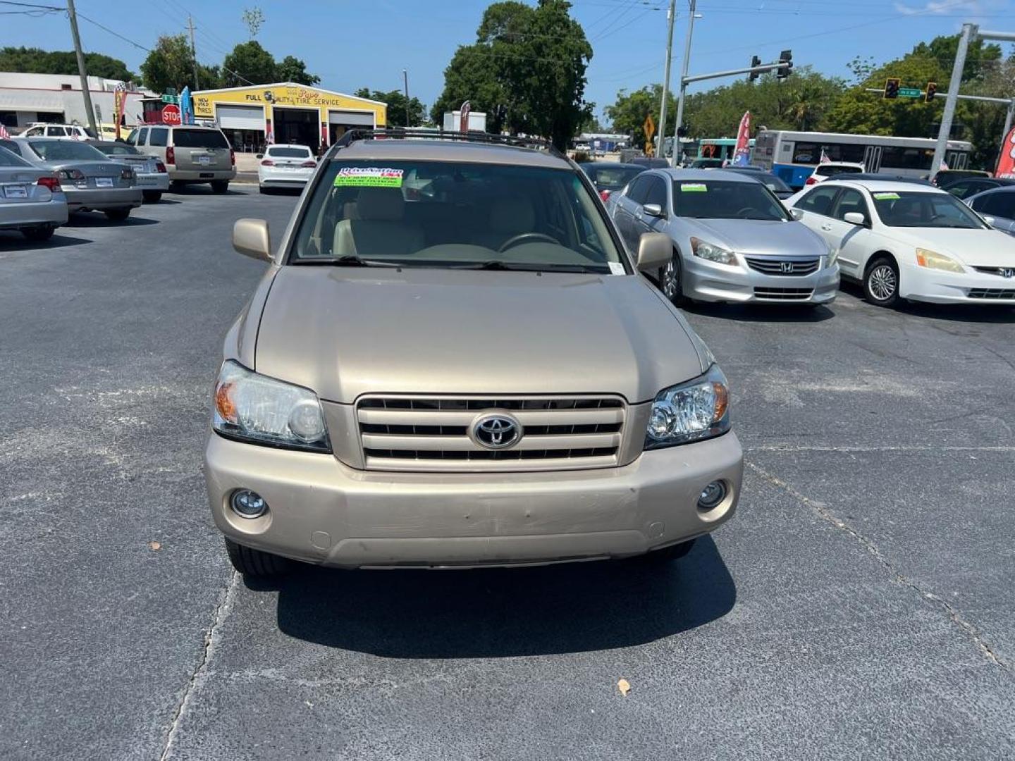
[[[748,256],[815,256],[828,247],[803,222],[762,219],[681,219],[690,234]]]

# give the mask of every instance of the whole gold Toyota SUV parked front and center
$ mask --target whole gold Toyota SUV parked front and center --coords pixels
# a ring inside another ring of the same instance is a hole
[[[384,137],[385,139],[375,139]],[[238,570],[686,554],[729,520],[726,377],[537,141],[347,133],[225,339],[205,454]]]

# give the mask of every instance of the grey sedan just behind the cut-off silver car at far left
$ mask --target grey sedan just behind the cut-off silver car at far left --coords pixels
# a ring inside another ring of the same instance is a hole
[[[0,140],[0,146],[13,146],[21,158],[55,172],[71,213],[101,211],[113,221],[123,221],[141,205],[134,169],[87,143],[65,137],[15,137]]]

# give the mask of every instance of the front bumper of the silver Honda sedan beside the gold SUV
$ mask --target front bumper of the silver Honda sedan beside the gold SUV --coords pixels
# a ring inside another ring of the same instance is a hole
[[[683,293],[697,301],[732,303],[829,303],[838,293],[838,265],[810,275],[765,275],[746,265],[730,266],[684,256]]]

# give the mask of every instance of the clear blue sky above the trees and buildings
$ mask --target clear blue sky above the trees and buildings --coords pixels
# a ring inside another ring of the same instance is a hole
[[[23,0],[58,5],[62,0]],[[188,12],[197,25],[198,58],[220,63],[248,39],[241,14],[258,5],[265,24],[258,36],[276,59],[295,55],[341,92],[402,86],[427,105],[439,94],[444,68],[458,45],[474,41],[487,0],[76,0],[79,14],[150,48],[159,34],[183,31]],[[593,43],[588,99],[597,113],[617,90],[662,81],[668,0],[572,0],[572,14]],[[0,4],[0,11],[20,7]],[[677,0],[674,70],[680,66],[687,0]],[[1015,0],[698,0],[691,73],[747,66],[752,54],[774,60],[785,48],[797,65],[844,75],[857,55],[882,62],[962,21],[1015,30]],[[121,58],[138,69],[145,52],[87,20],[86,50]],[[0,46],[70,50],[66,17],[0,15]],[[705,84],[702,86],[714,86]]]

